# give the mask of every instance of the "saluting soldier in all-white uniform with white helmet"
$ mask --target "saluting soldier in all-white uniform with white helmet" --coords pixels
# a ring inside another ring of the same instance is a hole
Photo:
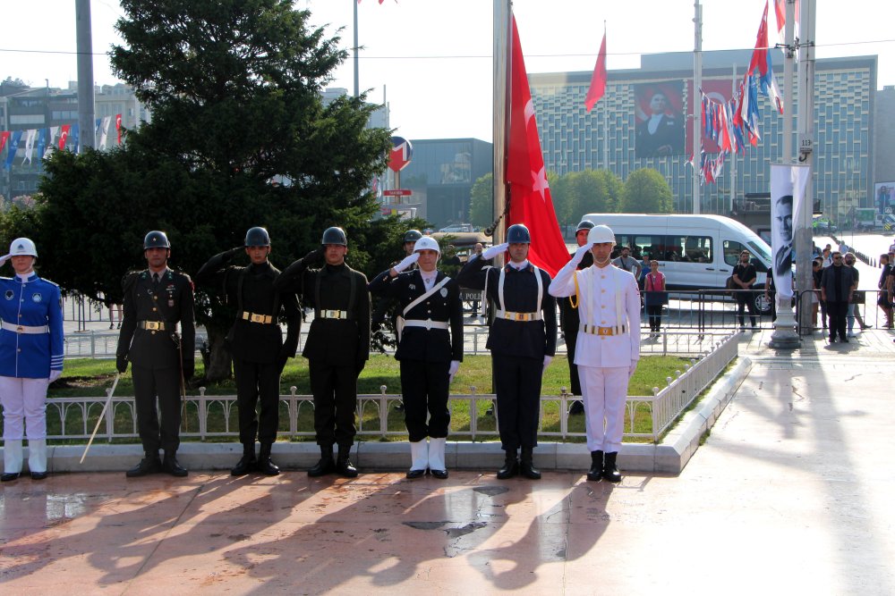
[[[587,479],[618,483],[621,474],[616,459],[624,430],[627,383],[640,359],[640,291],[630,271],[611,265],[614,246],[615,234],[609,227],[594,226],[587,244],[557,273],[550,294],[575,296],[582,321],[575,365],[584,392],[584,424],[591,451]],[[593,264],[578,271],[588,251]]]

